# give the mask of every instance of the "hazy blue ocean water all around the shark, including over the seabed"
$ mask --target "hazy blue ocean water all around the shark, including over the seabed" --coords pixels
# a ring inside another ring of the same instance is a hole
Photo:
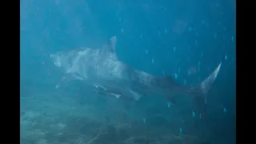
[[[21,0],[22,143],[236,143],[234,0]],[[102,47],[118,59],[194,86],[226,55],[207,98],[207,122],[190,99],[118,102],[65,75],[50,54]]]

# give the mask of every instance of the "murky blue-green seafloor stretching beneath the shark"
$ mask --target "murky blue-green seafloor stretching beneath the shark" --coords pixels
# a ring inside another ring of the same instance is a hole
[[[22,144],[200,144],[221,139],[200,119],[191,118],[189,106],[169,113],[165,104],[154,106],[154,100],[142,106],[70,85],[57,90],[50,86],[21,82]]]

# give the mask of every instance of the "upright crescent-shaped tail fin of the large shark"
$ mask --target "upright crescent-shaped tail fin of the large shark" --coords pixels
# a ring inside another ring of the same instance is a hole
[[[222,59],[222,62],[225,60],[225,57]],[[206,120],[206,103],[207,103],[207,94],[214,84],[215,79],[218,76],[218,72],[222,66],[222,62],[218,64],[218,67],[211,73],[206,79],[204,79],[194,90],[194,102],[200,110],[200,118]]]

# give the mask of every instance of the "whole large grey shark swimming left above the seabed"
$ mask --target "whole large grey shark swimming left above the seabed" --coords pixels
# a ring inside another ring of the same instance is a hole
[[[116,42],[117,38],[114,36],[110,38],[109,44],[103,45],[102,48],[79,48],[50,54],[54,65],[66,74],[56,88],[62,83],[79,79],[98,94],[135,101],[150,94],[162,95],[174,104],[175,97],[183,94],[193,98],[202,116],[205,115],[206,94],[213,85],[222,62],[198,86],[181,86],[172,78],[156,77],[119,61],[115,54]]]

